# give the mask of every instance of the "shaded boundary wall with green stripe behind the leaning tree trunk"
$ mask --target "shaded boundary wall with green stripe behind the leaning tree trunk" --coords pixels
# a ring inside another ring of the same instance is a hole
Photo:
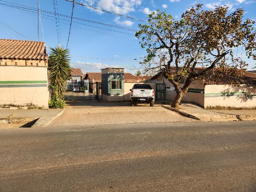
[[[149,80],[148,82],[151,83],[165,83],[166,87],[166,99],[167,100],[174,100],[176,96],[176,92],[174,90],[173,84],[168,81],[166,78],[163,78],[162,76],[157,76],[154,79]],[[182,87],[183,84],[180,84]],[[155,88],[154,88],[155,90]],[[185,96],[183,96],[182,101],[185,102],[194,102],[202,107],[204,107],[204,84],[200,84],[200,81],[195,80],[192,82],[192,84],[189,87],[188,92]]]

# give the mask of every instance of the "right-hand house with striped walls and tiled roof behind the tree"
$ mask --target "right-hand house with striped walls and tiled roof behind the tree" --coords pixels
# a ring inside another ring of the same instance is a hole
[[[247,71],[241,79],[236,79],[239,82],[230,84],[233,79],[236,78],[224,76],[217,81],[216,78],[209,76],[195,80],[182,101],[195,102],[203,108],[256,108],[256,73]],[[174,100],[175,88],[161,73],[157,73],[146,82],[156,84],[156,97],[163,96],[164,99]]]

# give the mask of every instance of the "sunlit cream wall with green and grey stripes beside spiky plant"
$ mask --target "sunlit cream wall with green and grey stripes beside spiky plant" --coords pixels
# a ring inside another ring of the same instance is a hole
[[[48,108],[47,67],[0,66],[0,105]]]

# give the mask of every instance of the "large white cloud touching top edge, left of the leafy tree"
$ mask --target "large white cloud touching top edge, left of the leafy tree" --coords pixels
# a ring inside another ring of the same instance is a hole
[[[141,5],[142,0],[83,0],[82,2],[90,6],[96,6],[118,14],[128,14],[129,12],[134,12],[136,6]],[[96,9],[91,10],[96,11]],[[102,14],[101,11],[97,12]]]

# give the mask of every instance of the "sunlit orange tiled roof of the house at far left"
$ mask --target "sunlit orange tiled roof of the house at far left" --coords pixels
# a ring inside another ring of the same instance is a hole
[[[0,58],[47,60],[48,56],[44,42],[0,39]]]

